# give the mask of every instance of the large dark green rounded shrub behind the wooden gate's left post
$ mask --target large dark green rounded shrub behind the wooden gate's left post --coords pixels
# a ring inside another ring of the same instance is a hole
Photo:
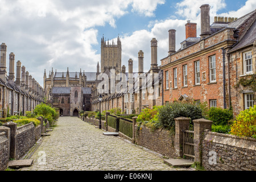
[[[178,117],[191,118],[191,121],[193,119],[203,118],[200,107],[188,102],[175,102],[173,104],[167,104],[159,107],[158,112],[159,125],[166,129],[174,129],[174,119]]]

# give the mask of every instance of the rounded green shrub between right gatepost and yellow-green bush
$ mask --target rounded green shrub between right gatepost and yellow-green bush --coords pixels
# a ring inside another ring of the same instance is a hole
[[[228,121],[233,119],[233,111],[220,107],[211,107],[208,111],[208,119],[213,121],[213,125],[228,125]]]

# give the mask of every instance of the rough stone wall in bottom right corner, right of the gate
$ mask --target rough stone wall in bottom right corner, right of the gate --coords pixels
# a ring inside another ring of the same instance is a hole
[[[202,163],[209,171],[256,171],[256,139],[205,130]]]

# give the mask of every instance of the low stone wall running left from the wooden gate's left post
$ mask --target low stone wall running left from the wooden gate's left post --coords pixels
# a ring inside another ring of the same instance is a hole
[[[134,142],[139,146],[146,147],[169,158],[176,158],[175,136],[167,130],[155,130],[152,132],[148,127],[135,125]]]

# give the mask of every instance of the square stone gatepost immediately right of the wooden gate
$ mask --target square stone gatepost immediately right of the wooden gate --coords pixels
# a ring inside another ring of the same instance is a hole
[[[194,123],[194,150],[195,150],[195,162],[202,162],[201,155],[203,151],[201,151],[201,144],[203,140],[203,133],[204,130],[212,131],[212,121],[207,119],[195,119],[193,120]]]

